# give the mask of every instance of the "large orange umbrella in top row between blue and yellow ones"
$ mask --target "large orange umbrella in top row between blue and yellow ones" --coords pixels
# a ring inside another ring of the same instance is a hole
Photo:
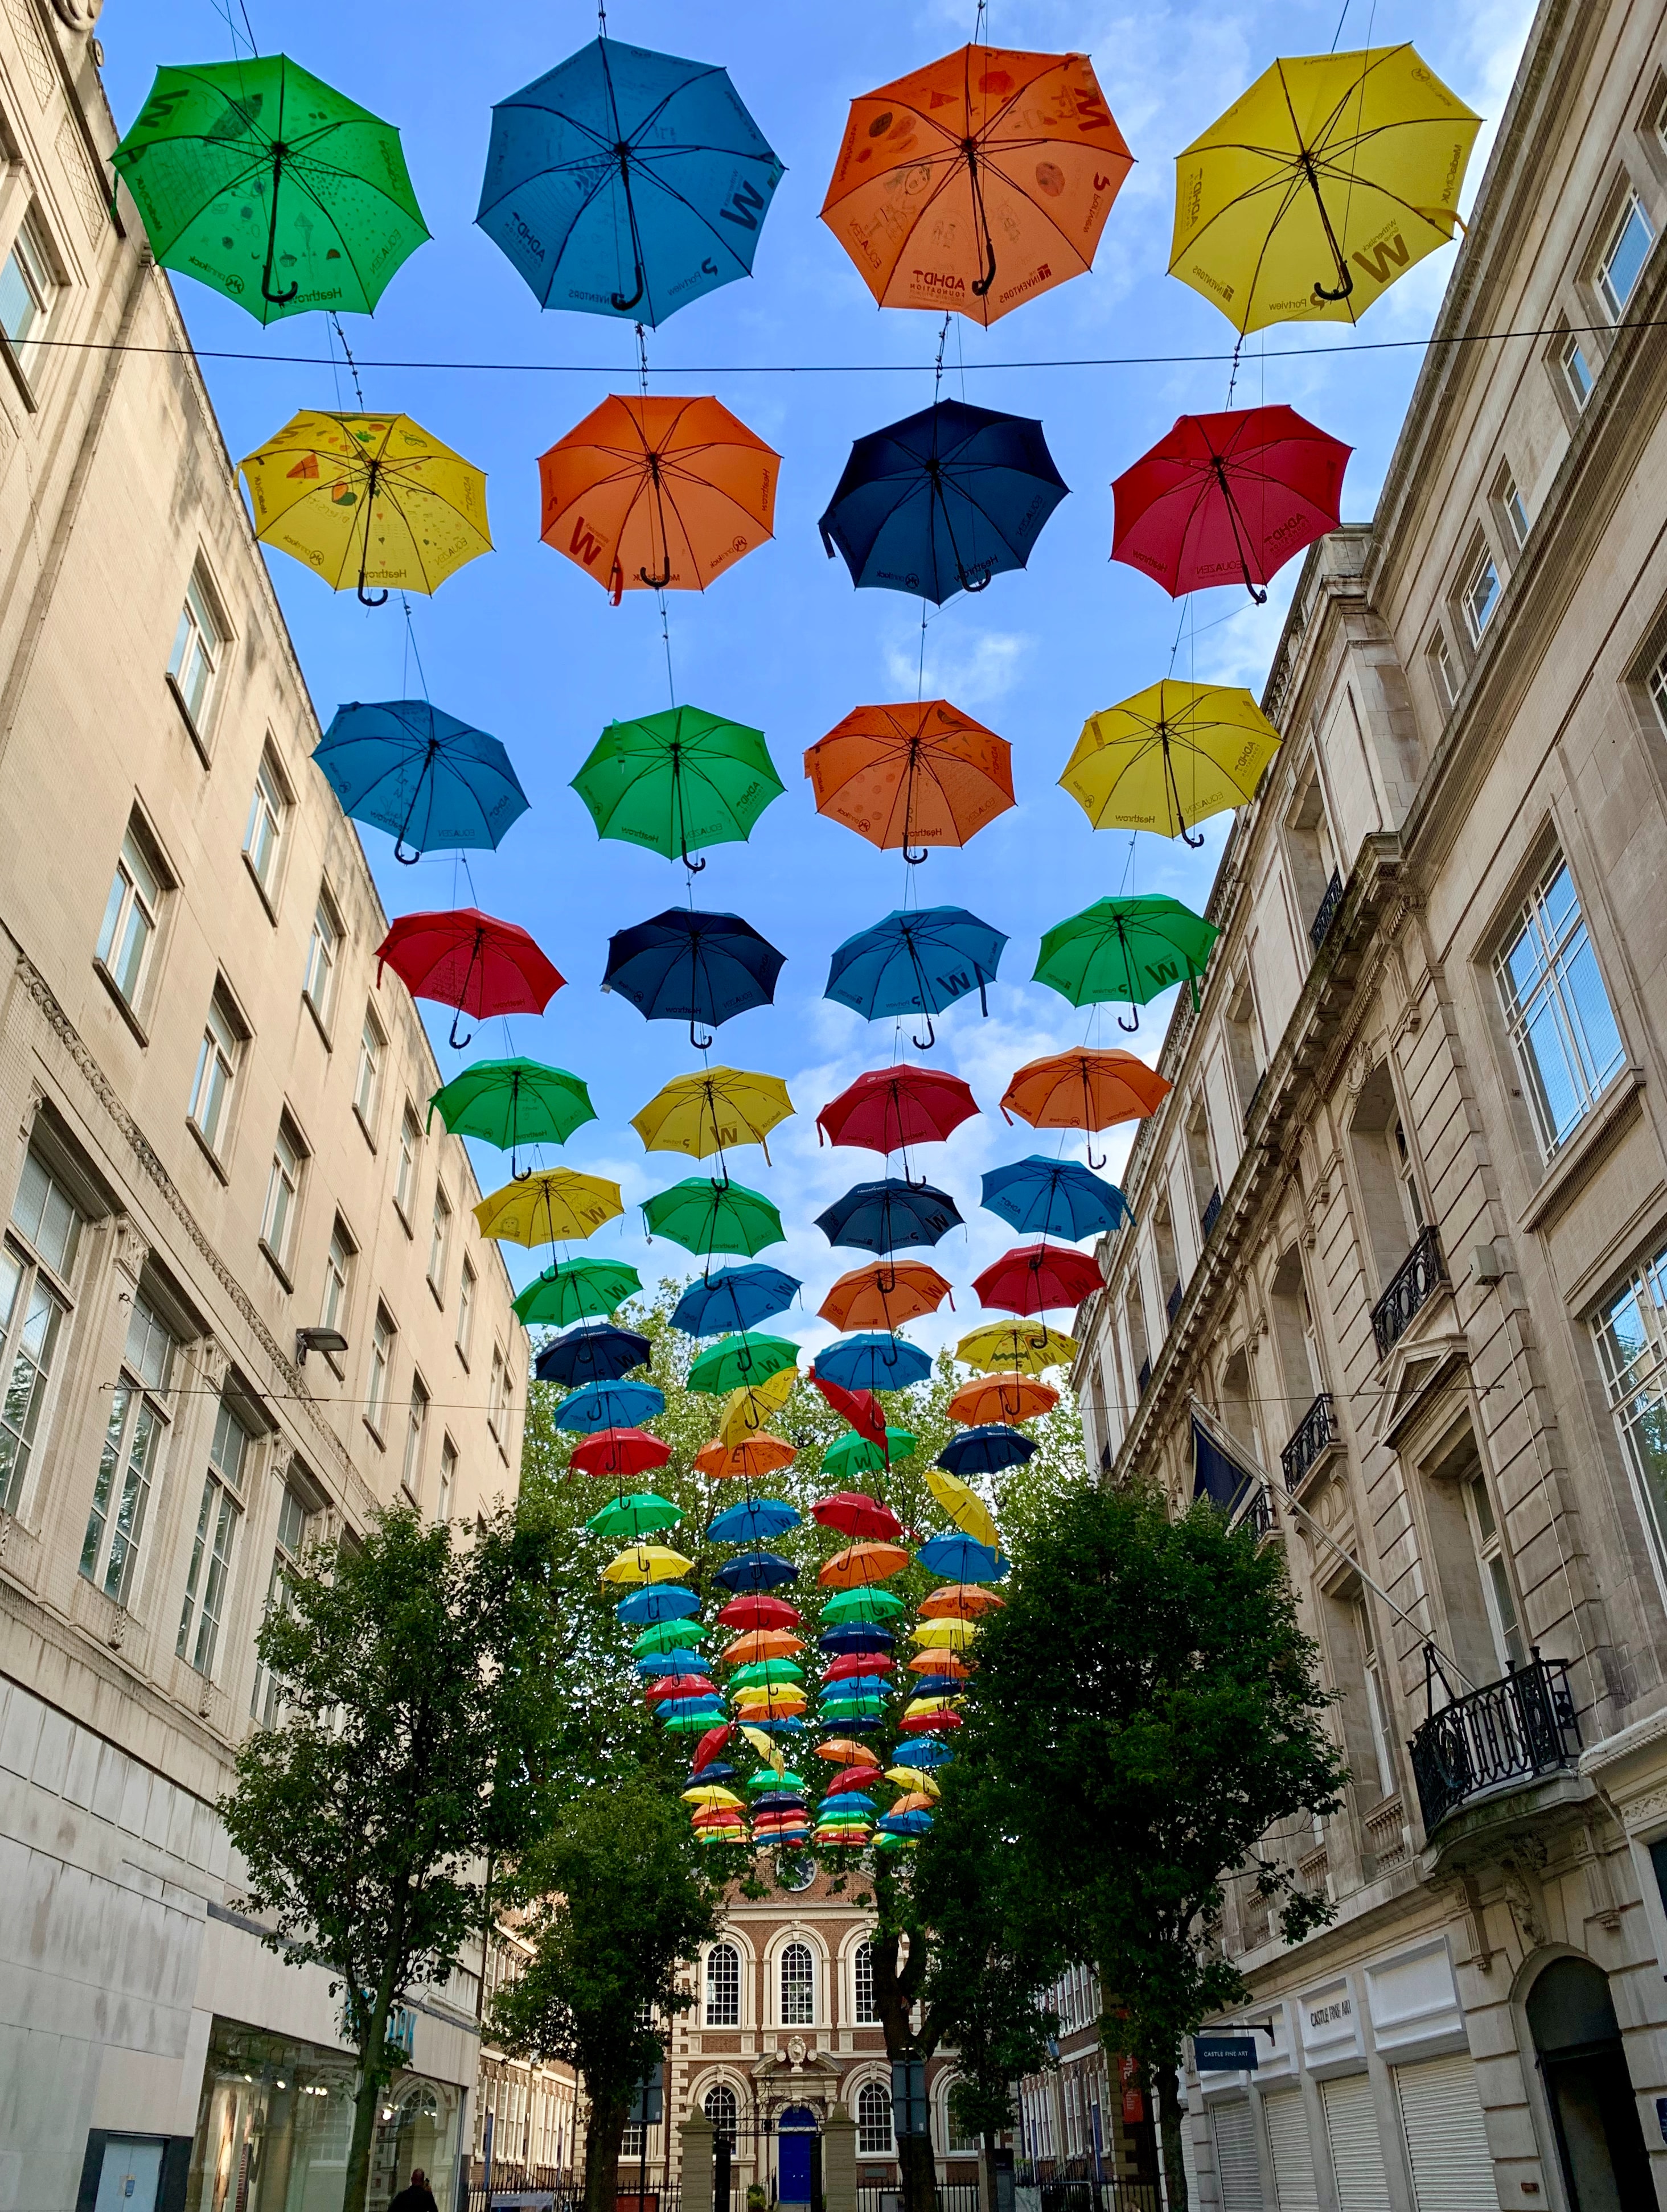
[[[821,219],[877,305],[987,325],[1089,268],[1131,161],[1085,53],[963,46],[852,100]]]

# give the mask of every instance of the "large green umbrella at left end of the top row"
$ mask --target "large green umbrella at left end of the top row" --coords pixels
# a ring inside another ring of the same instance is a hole
[[[261,323],[370,314],[427,239],[398,131],[281,53],[159,69],[111,161],[157,261]]]

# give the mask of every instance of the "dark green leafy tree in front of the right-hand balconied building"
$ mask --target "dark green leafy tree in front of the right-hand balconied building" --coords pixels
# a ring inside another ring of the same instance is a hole
[[[1171,1517],[1147,1489],[1056,1498],[1016,1566],[979,1639],[961,1787],[987,1805],[1029,1909],[1098,1964],[1100,2033],[1156,2086],[1184,2205],[1182,2037],[1244,1997],[1211,1942],[1224,1880],[1253,1880],[1291,1942],[1331,1911],[1271,1838],[1335,1812],[1346,1781],[1315,1646],[1280,1553],[1207,1502]]]

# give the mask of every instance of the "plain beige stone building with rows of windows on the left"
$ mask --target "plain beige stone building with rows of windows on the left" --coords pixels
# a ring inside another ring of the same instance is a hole
[[[328,2212],[339,2000],[213,1801],[297,1546],[514,1493],[525,1340],[95,15],[0,11],[0,2205]],[[410,1995],[374,2201],[445,2194],[474,2013]]]

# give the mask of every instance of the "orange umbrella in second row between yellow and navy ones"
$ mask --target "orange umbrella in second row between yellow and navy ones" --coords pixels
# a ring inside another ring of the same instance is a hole
[[[706,591],[775,535],[781,456],[717,400],[613,394],[538,460],[538,535],[602,584]]]

